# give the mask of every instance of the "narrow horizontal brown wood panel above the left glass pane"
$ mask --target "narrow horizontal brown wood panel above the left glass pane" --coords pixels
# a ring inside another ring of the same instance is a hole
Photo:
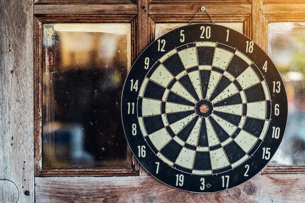
[[[111,5],[44,5],[35,4],[34,14],[58,14],[58,15],[120,15],[137,14],[137,5],[135,4],[116,4]]]

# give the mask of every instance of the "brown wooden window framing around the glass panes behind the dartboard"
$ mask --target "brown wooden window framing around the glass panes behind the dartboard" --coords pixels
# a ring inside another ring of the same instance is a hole
[[[154,40],[155,23],[187,23],[205,6],[217,22],[243,22],[244,34],[267,51],[268,22],[305,21],[305,0],[35,0],[34,5],[34,136],[35,175],[133,176],[148,175],[132,155],[127,169],[42,168],[42,23],[131,23],[132,62]],[[114,5],[115,4],[115,5]],[[228,6],[230,9],[228,9]],[[280,13],[278,10],[280,9]],[[193,22],[209,22],[201,14]],[[253,22],[262,22],[254,23]],[[266,35],[261,35],[266,33]],[[267,166],[262,174],[305,173],[305,166]]]

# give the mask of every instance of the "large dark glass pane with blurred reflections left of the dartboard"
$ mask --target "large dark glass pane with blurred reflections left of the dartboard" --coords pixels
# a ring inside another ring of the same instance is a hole
[[[43,24],[43,168],[130,167],[120,99],[130,24]]]

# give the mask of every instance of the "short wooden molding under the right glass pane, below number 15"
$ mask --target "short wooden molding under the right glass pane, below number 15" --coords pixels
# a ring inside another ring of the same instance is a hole
[[[267,166],[262,174],[305,173],[305,166]]]

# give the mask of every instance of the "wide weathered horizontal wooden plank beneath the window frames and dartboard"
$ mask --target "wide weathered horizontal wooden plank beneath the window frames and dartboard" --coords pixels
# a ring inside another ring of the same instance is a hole
[[[257,175],[242,185],[211,194],[174,189],[151,176],[57,177],[35,181],[36,203],[301,203],[305,200],[305,174]]]

